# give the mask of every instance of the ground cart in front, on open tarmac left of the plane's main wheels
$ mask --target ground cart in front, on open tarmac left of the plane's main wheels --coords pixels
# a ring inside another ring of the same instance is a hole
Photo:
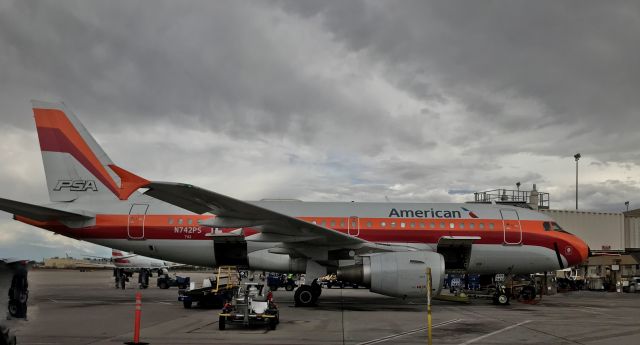
[[[218,328],[224,330],[227,324],[245,327],[265,325],[274,330],[279,322],[280,311],[273,302],[269,287],[263,283],[246,282],[225,304],[219,315]]]

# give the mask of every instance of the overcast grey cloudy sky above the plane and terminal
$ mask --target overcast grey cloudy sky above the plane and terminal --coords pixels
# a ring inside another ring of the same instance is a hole
[[[116,164],[241,199],[640,207],[637,1],[0,0],[0,197],[48,202],[30,99]],[[0,212],[0,257],[109,252]]]

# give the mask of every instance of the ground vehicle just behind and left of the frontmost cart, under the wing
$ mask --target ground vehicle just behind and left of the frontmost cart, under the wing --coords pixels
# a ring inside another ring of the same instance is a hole
[[[188,289],[178,290],[178,300],[189,309],[196,303],[198,307],[221,308],[233,298],[240,283],[238,271],[233,266],[219,267],[212,278],[206,278],[202,286],[196,288],[195,282]]]

